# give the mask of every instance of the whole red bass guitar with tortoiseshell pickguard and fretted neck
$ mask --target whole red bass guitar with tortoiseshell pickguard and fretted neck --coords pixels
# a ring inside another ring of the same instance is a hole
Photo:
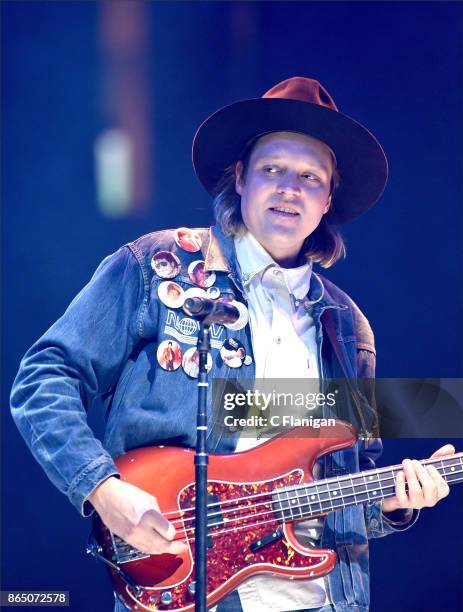
[[[298,427],[241,453],[211,455],[208,469],[207,604],[255,573],[318,578],[336,564],[329,549],[306,548],[296,521],[394,495],[401,465],[314,481],[317,459],[356,442],[353,427]],[[194,609],[194,451],[140,448],[120,457],[121,478],[158,501],[188,544],[181,555],[147,555],[111,533],[97,516],[88,551],[109,566],[114,588],[131,610]],[[463,453],[427,459],[448,483],[463,481]]]

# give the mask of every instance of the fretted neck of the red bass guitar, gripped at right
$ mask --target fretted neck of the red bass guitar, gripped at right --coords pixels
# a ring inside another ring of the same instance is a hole
[[[420,463],[433,465],[448,484],[463,482],[463,453]],[[275,492],[275,509],[283,521],[292,521],[392,497],[402,469],[402,465],[392,465],[285,487]]]

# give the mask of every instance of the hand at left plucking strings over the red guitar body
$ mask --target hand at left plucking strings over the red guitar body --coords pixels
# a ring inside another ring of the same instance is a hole
[[[106,527],[138,550],[150,555],[178,555],[187,550],[184,542],[173,542],[174,526],[160,513],[156,498],[146,491],[111,476],[87,499]]]

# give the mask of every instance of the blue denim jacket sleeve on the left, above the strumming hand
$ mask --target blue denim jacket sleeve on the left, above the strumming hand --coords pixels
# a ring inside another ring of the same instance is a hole
[[[118,470],[87,424],[87,410],[114,389],[141,336],[147,291],[128,247],[107,257],[63,316],[28,350],[11,413],[35,459],[86,516],[85,498]]]

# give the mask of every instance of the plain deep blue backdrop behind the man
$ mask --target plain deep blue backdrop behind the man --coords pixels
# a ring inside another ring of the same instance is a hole
[[[209,224],[191,169],[199,123],[292,75],[319,79],[390,161],[377,206],[345,227],[327,276],[376,333],[378,375],[461,377],[463,5],[460,2],[151,2],[147,55],[154,189],[144,211],[98,211],[101,5],[3,2],[3,589],[63,589],[71,609],[111,609],[86,558],[89,523],[46,480],[8,414],[19,360],[107,253],[148,231]],[[92,416],[96,427],[100,415]],[[456,440],[459,450],[461,440]],[[437,440],[386,441],[381,463]],[[463,606],[462,491],[408,532],[371,545],[372,610]]]

